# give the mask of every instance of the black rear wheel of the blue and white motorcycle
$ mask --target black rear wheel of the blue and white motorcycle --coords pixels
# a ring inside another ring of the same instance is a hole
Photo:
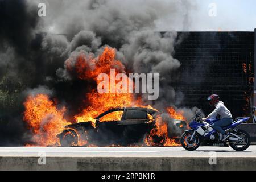
[[[238,130],[237,133],[235,134],[241,137],[242,139],[238,140],[237,142],[229,142],[230,147],[232,147],[236,151],[246,150],[251,143],[250,135],[244,130]]]

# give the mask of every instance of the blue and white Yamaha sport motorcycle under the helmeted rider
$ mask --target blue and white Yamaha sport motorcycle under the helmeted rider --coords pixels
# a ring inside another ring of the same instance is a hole
[[[237,126],[249,118],[236,118],[231,125],[223,127],[225,133],[229,133],[229,137],[224,141],[220,140],[218,132],[212,127],[219,119],[210,118],[203,121],[202,118],[203,114],[196,110],[195,117],[189,121],[191,129],[181,135],[180,143],[186,150],[193,151],[199,146],[230,146],[236,151],[243,151],[250,146],[250,135],[244,130],[237,129]]]

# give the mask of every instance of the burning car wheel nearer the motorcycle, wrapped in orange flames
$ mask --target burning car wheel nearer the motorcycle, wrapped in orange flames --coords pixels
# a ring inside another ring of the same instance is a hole
[[[149,134],[146,134],[144,139],[144,143],[147,146],[164,146],[166,142],[167,142],[167,136],[158,135],[156,128],[152,129]]]

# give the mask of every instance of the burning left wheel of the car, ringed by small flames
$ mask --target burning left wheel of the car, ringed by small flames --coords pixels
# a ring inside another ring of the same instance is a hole
[[[77,146],[78,135],[75,130],[67,129],[60,134],[60,145],[62,147]]]

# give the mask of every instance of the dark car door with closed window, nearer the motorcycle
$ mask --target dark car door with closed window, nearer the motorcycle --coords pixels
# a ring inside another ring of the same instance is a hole
[[[148,130],[148,113],[144,109],[126,109],[123,114],[123,135],[128,142],[141,140]]]

